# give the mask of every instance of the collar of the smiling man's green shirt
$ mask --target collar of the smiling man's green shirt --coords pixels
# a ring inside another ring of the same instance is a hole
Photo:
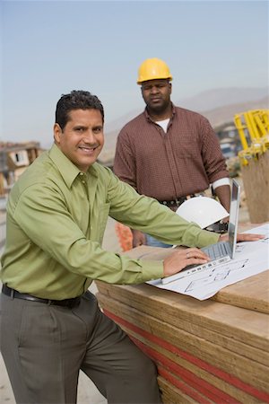
[[[67,187],[71,188],[74,180],[82,171],[80,171],[76,165],[74,165],[74,163],[65,156],[65,154],[56,146],[56,144],[52,145],[48,155],[55,163],[57,169],[60,171]],[[89,168],[87,174],[88,173],[96,176],[96,170],[93,166]]]

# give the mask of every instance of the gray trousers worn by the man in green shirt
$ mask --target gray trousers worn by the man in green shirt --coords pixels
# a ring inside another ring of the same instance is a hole
[[[75,403],[80,369],[108,403],[161,403],[155,365],[90,292],[73,309],[1,294],[1,312],[1,350],[17,403]]]

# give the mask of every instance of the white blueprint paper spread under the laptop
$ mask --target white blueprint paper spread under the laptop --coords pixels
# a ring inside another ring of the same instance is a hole
[[[223,287],[253,277],[269,269],[269,224],[263,224],[244,233],[264,234],[257,242],[239,242],[235,258],[222,265],[206,268],[163,285],[161,279],[148,282],[161,289],[187,294],[199,300],[212,297]]]

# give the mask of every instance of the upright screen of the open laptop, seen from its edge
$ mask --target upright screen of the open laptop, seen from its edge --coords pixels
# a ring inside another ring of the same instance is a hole
[[[230,195],[230,221],[228,229],[230,251],[231,251],[230,258],[234,258],[237,245],[239,202],[240,202],[240,186],[236,180],[232,180],[231,195]]]

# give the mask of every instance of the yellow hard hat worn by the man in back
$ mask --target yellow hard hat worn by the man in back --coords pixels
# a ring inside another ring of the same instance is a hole
[[[138,69],[137,84],[147,82],[148,80],[169,79],[172,76],[169,71],[169,66],[163,60],[153,57],[146,59]]]

